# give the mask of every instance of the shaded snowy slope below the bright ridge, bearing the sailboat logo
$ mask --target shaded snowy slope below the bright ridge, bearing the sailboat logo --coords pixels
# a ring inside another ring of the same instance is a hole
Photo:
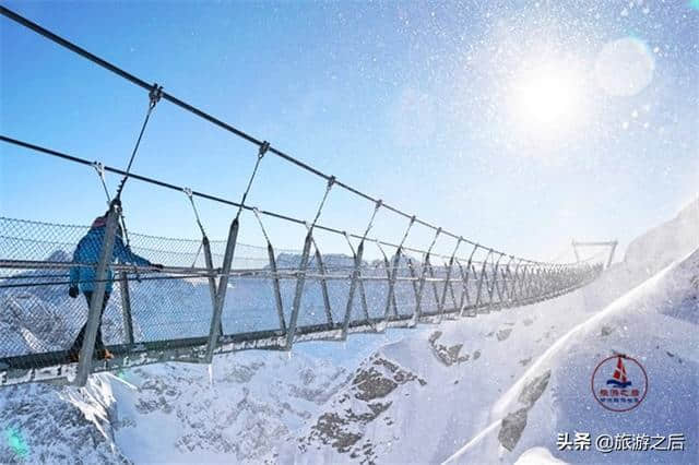
[[[566,462],[696,463],[699,456],[699,250],[674,263],[602,312],[577,325],[547,349],[502,395],[489,421],[519,421],[507,431],[505,422],[455,454],[454,462],[500,457],[512,462],[532,448],[554,448]],[[638,359],[649,377],[647,398],[628,413],[608,412],[596,404],[590,389],[599,361],[616,354]],[[546,379],[541,398],[528,407],[522,393]],[[516,421],[516,422],[517,422]],[[601,453],[557,451],[557,433],[684,433],[686,450],[674,452]],[[520,436],[521,434],[521,436]],[[506,448],[507,446],[507,448]],[[509,450],[511,451],[509,451]],[[650,456],[649,454],[653,454]]]

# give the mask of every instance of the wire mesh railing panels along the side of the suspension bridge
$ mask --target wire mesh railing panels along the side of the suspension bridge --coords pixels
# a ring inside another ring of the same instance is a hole
[[[88,230],[0,218],[0,384],[74,374],[70,351],[88,319],[90,301],[85,293],[71,298],[68,289],[72,267],[96,265],[73,261]],[[95,360],[91,371],[161,360],[205,361],[214,311],[209,278],[221,277],[225,242],[211,245],[216,250],[214,269],[197,257],[200,241],[131,235],[133,253],[167,266],[110,266],[114,274],[105,279],[108,297],[99,327],[115,358]],[[473,317],[555,297],[601,271],[599,265],[514,267],[493,261],[430,264],[408,257],[363,261],[355,270],[356,257],[320,252],[311,254],[303,271],[300,251],[238,248],[215,353],[288,349],[298,341],[343,339],[355,332]],[[289,338],[301,276],[305,286]]]

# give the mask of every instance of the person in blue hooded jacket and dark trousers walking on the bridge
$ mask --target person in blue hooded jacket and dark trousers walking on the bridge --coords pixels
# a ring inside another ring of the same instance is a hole
[[[107,226],[107,213],[105,213],[104,216],[98,216],[97,218],[95,218],[87,234],[80,240],[80,242],[78,242],[78,247],[75,247],[75,251],[73,252],[73,263],[95,264],[99,262],[102,242],[104,241],[105,230]],[[121,236],[122,231],[121,227],[119,226],[117,227],[117,235],[115,237],[114,250],[111,252],[111,260],[109,260],[109,263],[114,263],[116,260],[119,260],[120,263],[132,263],[139,266],[152,266],[156,271],[163,270],[163,265],[153,264],[143,257],[133,253],[129,247],[123,245]],[[70,287],[68,289],[68,295],[74,299],[78,297],[80,291],[82,291],[85,296],[85,300],[87,301],[87,308],[90,308],[92,294],[95,290],[95,273],[96,270],[93,266],[73,266],[72,269],[70,269]],[[112,288],[112,272],[111,270],[109,270],[109,267],[107,267],[106,279],[107,282],[105,288],[105,297],[102,302],[102,310],[99,314],[100,320],[102,314],[107,307],[107,302],[109,301],[109,295],[111,294]],[[85,335],[86,327],[87,323],[85,323],[82,330],[80,330],[75,342],[68,353],[68,358],[70,361],[78,361],[78,356],[83,345],[83,337]],[[110,359],[114,357],[114,355],[105,347],[105,344],[102,341],[102,331],[99,326],[97,326],[97,337],[95,337],[95,354],[99,359]]]

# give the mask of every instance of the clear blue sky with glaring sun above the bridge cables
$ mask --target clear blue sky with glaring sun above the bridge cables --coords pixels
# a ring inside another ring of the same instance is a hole
[[[536,259],[573,237],[625,245],[697,195],[699,11],[595,3],[4,2],[360,190]],[[3,134],[126,166],[145,92],[7,19],[0,47]],[[609,92],[605,47],[628,61],[631,95]],[[256,152],[162,102],[133,170],[237,200]],[[248,203],[310,218],[323,190],[269,156]],[[130,181],[123,203],[134,231],[198,237],[183,194]],[[104,207],[90,168],[0,147],[1,215],[86,224]],[[235,211],[199,207],[224,237]],[[321,223],[360,231],[371,211],[333,190]],[[240,240],[263,243],[242,222]],[[275,246],[300,248],[303,228],[268,223]],[[396,241],[405,223],[383,212],[376,234]]]

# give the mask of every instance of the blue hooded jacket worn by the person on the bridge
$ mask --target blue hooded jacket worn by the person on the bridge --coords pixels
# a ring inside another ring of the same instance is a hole
[[[98,218],[99,219],[99,218]],[[92,228],[83,237],[73,252],[73,263],[88,263],[95,264],[99,262],[99,254],[102,252],[102,242],[105,237],[104,222],[97,220],[93,224]],[[123,245],[121,237],[118,235],[115,237],[114,250],[111,252],[111,260],[109,263],[114,263],[116,260],[120,263],[132,263],[141,266],[150,266],[152,263],[142,257],[131,252],[130,248]],[[70,269],[70,285],[78,286],[80,284],[80,290],[83,293],[92,293],[95,289],[95,274],[96,266],[73,266]],[[106,291],[111,293],[112,288],[112,272],[107,267],[107,283]]]

